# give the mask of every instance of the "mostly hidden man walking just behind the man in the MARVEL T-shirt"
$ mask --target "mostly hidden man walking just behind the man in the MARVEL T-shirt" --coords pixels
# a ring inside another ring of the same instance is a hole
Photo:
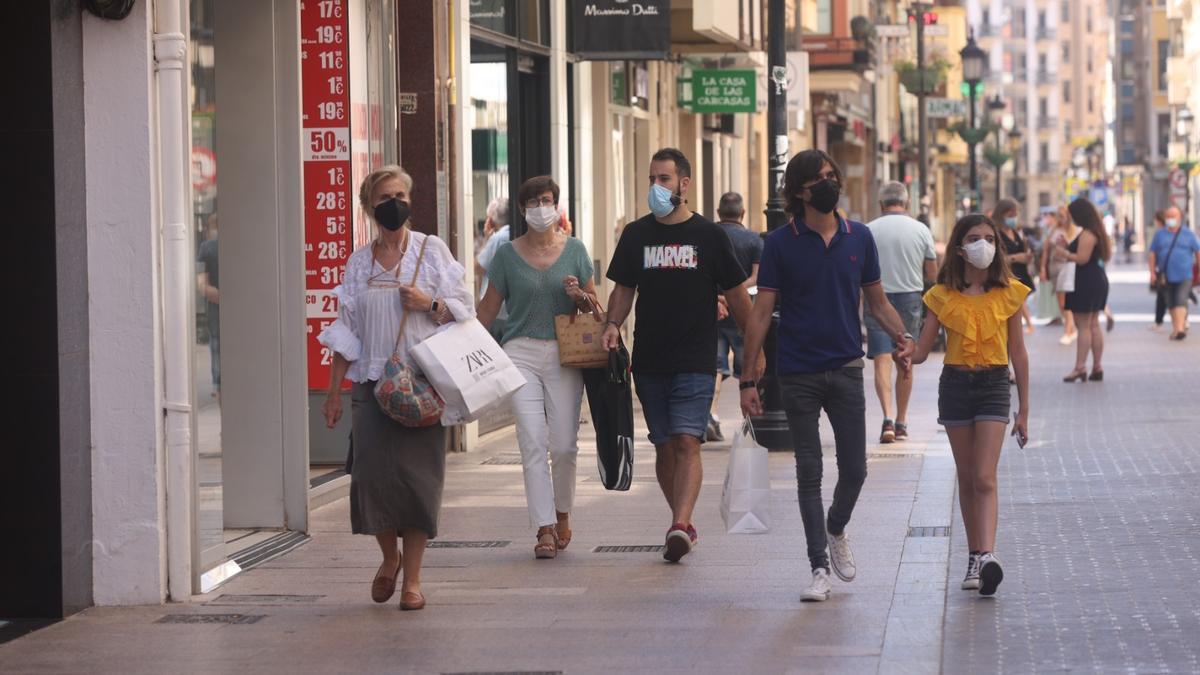
[[[721,201],[716,207],[716,217],[719,226],[730,235],[730,243],[733,244],[733,255],[738,258],[738,263],[742,269],[750,274],[745,282],[742,283],[749,291],[751,287],[758,283],[758,261],[762,258],[762,237],[756,232],[750,232],[746,226],[742,223],[745,219],[746,209],[742,201],[742,195],[737,192],[726,192],[721,195]],[[721,306],[725,307],[726,303],[722,301]],[[721,434],[721,419],[716,414],[716,408],[721,402],[721,382],[730,377],[742,377],[742,369],[744,368],[745,358],[742,351],[742,330],[738,329],[737,321],[730,316],[728,311],[721,312],[725,316],[719,317],[716,322],[716,390],[713,393],[713,407],[708,419],[708,441],[724,441],[725,435]],[[733,356],[733,368],[730,369],[730,354]]]

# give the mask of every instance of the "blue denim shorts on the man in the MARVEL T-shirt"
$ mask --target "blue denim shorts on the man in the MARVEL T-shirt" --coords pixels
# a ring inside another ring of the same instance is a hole
[[[650,443],[661,446],[672,436],[695,436],[703,442],[713,406],[716,376],[707,372],[634,374]]]

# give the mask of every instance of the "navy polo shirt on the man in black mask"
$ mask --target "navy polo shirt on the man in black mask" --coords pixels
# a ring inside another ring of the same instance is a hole
[[[804,221],[767,237],[758,288],[779,293],[779,375],[824,372],[863,358],[858,303],[880,282],[871,231],[838,217],[829,245]]]

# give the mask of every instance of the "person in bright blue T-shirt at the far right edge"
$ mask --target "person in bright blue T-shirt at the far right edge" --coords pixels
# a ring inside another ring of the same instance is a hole
[[[1183,340],[1188,336],[1193,265],[1200,265],[1200,239],[1192,228],[1183,227],[1183,215],[1176,207],[1163,211],[1163,222],[1165,228],[1156,232],[1150,244],[1150,283],[1171,312],[1171,340]]]

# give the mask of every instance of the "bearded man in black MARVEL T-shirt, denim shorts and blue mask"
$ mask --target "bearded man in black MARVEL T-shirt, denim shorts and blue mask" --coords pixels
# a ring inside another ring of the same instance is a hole
[[[739,325],[750,313],[746,274],[728,235],[688,208],[691,162],[674,148],[650,157],[646,215],[625,226],[608,264],[604,345],[616,350],[637,298],[634,387],[654,443],[654,472],[671,507],[662,557],[678,562],[698,538],[692,510],[703,467],[700,444],[716,386],[716,305],[724,291]]]

